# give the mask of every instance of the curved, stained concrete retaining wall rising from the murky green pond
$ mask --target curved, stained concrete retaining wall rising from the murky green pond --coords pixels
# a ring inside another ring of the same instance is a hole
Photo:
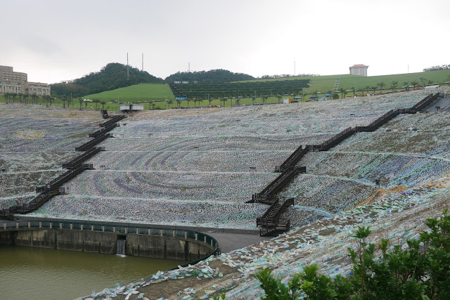
[[[1,230],[0,244],[116,254],[117,237],[126,240],[126,252],[129,256],[193,261],[214,251],[210,244],[184,237],[58,228]]]

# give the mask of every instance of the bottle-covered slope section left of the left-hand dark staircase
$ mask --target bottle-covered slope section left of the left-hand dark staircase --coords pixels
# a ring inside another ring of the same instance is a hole
[[[99,112],[0,103],[0,208],[29,202],[37,185],[62,174],[99,121]]]

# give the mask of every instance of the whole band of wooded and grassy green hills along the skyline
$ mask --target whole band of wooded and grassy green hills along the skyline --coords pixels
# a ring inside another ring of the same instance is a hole
[[[171,103],[158,103],[156,108],[173,106],[174,96],[188,96],[188,100],[178,101],[177,106],[191,106],[189,101],[196,101],[194,106],[205,105],[229,105],[231,99],[238,99],[235,104],[250,103],[272,103],[281,101],[284,96],[300,96],[303,101],[312,95],[323,97],[326,93],[333,93],[336,98],[366,95],[366,93],[383,93],[390,91],[408,90],[405,86],[423,87],[432,84],[448,84],[450,81],[450,69],[417,72],[409,74],[391,74],[383,76],[361,77],[351,74],[337,74],[326,76],[301,76],[281,77],[272,79],[255,79],[243,74],[233,73],[228,70],[210,70],[199,72],[177,72],[165,79],[172,85],[163,85],[164,81],[154,77],[148,72],[142,72],[135,67],[129,68],[129,79],[127,79],[127,66],[119,63],[110,63],[102,68],[100,72],[93,72],[82,78],[66,81],[51,86],[52,96],[60,99],[90,98],[99,100],[118,100],[119,102],[149,102],[163,101],[169,99]],[[176,81],[188,81],[189,84],[174,84]],[[197,84],[194,84],[194,81]],[[307,86],[303,84],[288,84],[283,82],[309,81]],[[396,83],[393,89],[393,84]],[[223,85],[222,85],[223,84]],[[238,84],[238,86],[236,86]],[[250,84],[250,88],[246,86]],[[252,85],[258,85],[252,86]],[[281,84],[281,86],[280,86]],[[383,85],[383,86],[380,86]],[[274,86],[275,85],[275,86]],[[131,87],[134,86],[134,87]],[[177,89],[174,89],[174,87]],[[209,88],[202,88],[210,86]],[[122,89],[129,88],[129,89]],[[188,90],[186,90],[188,88]],[[195,89],[194,89],[195,88]],[[340,90],[345,90],[342,93]],[[251,93],[250,93],[251,92]],[[185,94],[185,95],[184,95]],[[258,99],[260,98],[260,99]],[[207,100],[209,99],[209,100]],[[214,99],[214,100],[213,100]],[[1,100],[1,99],[0,99]],[[58,105],[58,101],[53,101]],[[63,103],[60,103],[63,106]],[[117,110],[118,107],[110,107],[108,110]],[[150,105],[146,105],[150,108]]]

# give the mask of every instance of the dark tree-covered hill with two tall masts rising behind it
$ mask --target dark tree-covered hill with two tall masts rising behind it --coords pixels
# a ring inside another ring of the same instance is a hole
[[[127,65],[109,63],[100,72],[92,72],[79,79],[52,84],[51,94],[52,96],[61,97],[69,96],[72,93],[72,97],[81,97],[134,84],[161,84],[163,82],[162,79],[154,77],[148,72],[143,72],[136,67],[129,67],[129,77],[127,78]]]

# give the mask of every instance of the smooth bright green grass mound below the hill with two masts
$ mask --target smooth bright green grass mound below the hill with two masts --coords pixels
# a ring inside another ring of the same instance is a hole
[[[121,102],[142,102],[150,100],[173,99],[174,95],[166,84],[136,84],[125,88],[115,89],[86,95],[82,98],[100,100],[118,100]]]

